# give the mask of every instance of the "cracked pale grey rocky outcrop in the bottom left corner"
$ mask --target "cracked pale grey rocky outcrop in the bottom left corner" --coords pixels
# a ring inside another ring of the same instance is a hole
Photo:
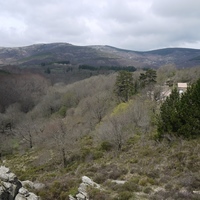
[[[25,189],[9,168],[0,166],[0,200],[40,200],[40,198]]]

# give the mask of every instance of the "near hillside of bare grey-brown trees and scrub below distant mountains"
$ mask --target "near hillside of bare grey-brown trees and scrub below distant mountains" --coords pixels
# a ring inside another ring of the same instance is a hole
[[[199,108],[186,115],[190,97],[199,106],[200,68],[88,74],[65,84],[0,71],[1,164],[20,180],[44,183],[33,192],[45,200],[75,197],[84,175],[102,187],[88,188],[89,199],[199,199]],[[176,104],[187,128],[176,121],[173,96],[163,97],[178,82],[192,88]],[[183,119],[194,122],[195,134]]]

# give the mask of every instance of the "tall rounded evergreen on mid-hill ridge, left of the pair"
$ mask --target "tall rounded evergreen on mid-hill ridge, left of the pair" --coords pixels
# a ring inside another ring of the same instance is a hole
[[[131,72],[119,71],[115,83],[115,94],[123,102],[127,102],[134,94],[134,83]]]

